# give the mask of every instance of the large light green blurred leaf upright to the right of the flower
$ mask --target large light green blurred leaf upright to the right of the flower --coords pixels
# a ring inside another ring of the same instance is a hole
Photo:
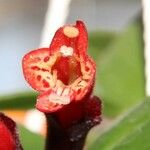
[[[95,92],[102,97],[106,116],[117,116],[145,96],[142,38],[140,24],[133,23],[103,55],[97,55]]]

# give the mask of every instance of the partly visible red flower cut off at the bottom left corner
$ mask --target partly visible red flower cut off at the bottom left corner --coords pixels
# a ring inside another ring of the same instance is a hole
[[[2,113],[0,113],[0,150],[22,150],[15,122]]]

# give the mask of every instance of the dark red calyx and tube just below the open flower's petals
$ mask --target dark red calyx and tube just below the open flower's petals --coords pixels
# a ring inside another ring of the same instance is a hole
[[[101,100],[96,96],[90,96],[80,102],[72,102],[55,115],[63,128],[68,128],[81,122],[92,127],[101,121]]]

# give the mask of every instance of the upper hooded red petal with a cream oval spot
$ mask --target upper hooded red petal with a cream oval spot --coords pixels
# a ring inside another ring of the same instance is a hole
[[[76,54],[85,55],[87,43],[86,27],[82,21],[77,21],[76,25],[66,25],[56,31],[50,45],[50,53],[59,51],[61,46],[67,46],[72,47]]]

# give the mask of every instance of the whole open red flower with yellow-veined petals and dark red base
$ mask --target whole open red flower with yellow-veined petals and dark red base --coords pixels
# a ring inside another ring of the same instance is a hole
[[[100,115],[100,102],[91,96],[96,67],[87,55],[87,43],[85,25],[77,21],[59,28],[49,48],[33,50],[23,58],[25,79],[40,92],[36,108],[57,112],[63,126],[85,114]]]

